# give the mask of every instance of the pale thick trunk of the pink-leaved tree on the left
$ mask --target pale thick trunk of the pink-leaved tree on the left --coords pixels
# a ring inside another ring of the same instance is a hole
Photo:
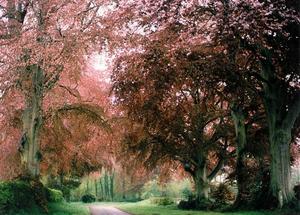
[[[43,71],[33,65],[31,92],[27,97],[26,109],[23,113],[23,137],[21,141],[21,160],[24,172],[31,178],[38,178],[40,174],[41,153],[40,132],[42,125],[42,101],[43,101]]]

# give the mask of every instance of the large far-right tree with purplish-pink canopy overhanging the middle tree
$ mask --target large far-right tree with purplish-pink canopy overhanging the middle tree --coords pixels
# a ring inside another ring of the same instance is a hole
[[[143,52],[145,41],[161,40],[161,35],[174,32],[177,36],[168,47],[170,53],[179,47],[187,50],[197,46],[218,49],[218,59],[210,58],[210,53],[200,57],[206,58],[210,74],[221,77],[219,80],[224,86],[244,87],[247,90],[242,92],[251,92],[261,101],[259,106],[266,113],[270,143],[271,195],[279,206],[289,204],[293,199],[290,144],[292,137],[297,135],[300,110],[297,2],[146,0],[131,4],[119,1],[119,4],[125,8],[124,11],[130,8],[127,26],[131,31],[126,35],[126,41],[138,43],[140,46],[136,46],[140,52]],[[122,27],[118,26],[119,29]],[[168,73],[165,64],[162,68]],[[242,92],[237,92],[236,98],[249,96]],[[242,114],[234,109],[232,117],[236,122],[243,121]],[[237,132],[237,135],[245,136],[243,132]],[[245,138],[239,139],[238,144],[242,147],[243,142]]]

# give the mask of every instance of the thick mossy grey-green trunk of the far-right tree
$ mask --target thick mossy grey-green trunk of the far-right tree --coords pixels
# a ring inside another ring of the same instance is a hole
[[[293,199],[290,143],[292,128],[300,113],[299,92],[291,100],[286,86],[275,77],[269,53],[262,62],[263,98],[269,127],[271,191],[279,207]]]

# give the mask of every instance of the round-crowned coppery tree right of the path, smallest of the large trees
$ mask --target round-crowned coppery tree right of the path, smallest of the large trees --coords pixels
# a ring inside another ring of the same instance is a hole
[[[203,50],[170,53],[166,42],[152,40],[142,53],[121,57],[114,93],[134,122],[127,149],[150,168],[181,162],[194,178],[200,202],[208,198],[208,183],[230,154],[228,105],[209,88],[214,80],[205,82],[211,76],[198,57]]]

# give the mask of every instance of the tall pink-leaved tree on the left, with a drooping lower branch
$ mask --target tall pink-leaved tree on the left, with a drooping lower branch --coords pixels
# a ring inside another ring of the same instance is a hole
[[[18,110],[15,118],[21,124],[18,132],[3,132],[1,142],[20,139],[22,172],[32,178],[40,175],[41,141],[48,137],[45,131],[52,127],[62,128],[60,135],[67,132],[63,129],[67,126],[63,115],[78,115],[94,125],[104,122],[99,103],[72,103],[74,99],[53,92],[60,88],[78,96],[76,84],[88,63],[87,56],[99,51],[104,41],[104,15],[99,10],[108,4],[101,0],[80,4],[59,0],[0,1],[0,99],[2,109],[7,111],[1,113],[1,118],[7,123],[5,118]],[[8,108],[14,99],[18,101]],[[49,144],[57,142],[57,138],[49,137]]]

